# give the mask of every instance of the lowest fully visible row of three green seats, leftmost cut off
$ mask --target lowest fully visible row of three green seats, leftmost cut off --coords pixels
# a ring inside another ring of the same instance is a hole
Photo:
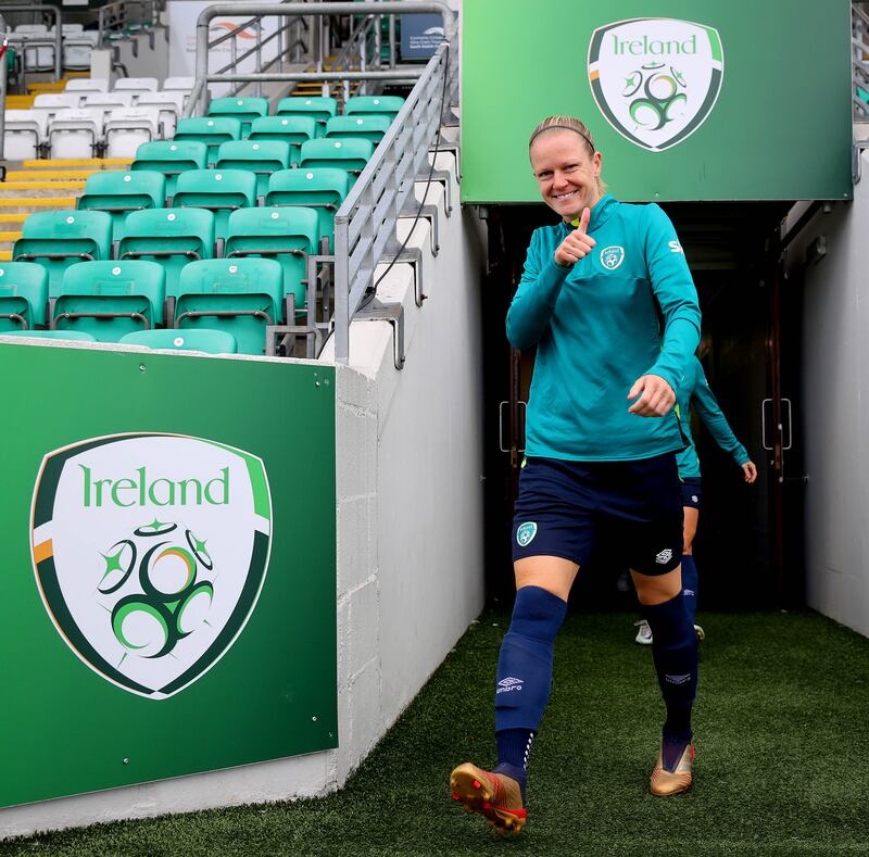
[[[200,260],[185,266],[177,294],[167,300],[161,265],[89,261],[66,268],[59,294],[49,300],[43,268],[9,262],[0,266],[0,332],[48,324],[55,331],[118,342],[165,325],[221,330],[232,337],[234,351],[263,354],[266,327],[281,324],[290,306],[281,277],[270,259]]]

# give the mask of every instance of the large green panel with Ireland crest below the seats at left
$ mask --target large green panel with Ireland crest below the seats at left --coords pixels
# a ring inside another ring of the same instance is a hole
[[[0,806],[337,746],[335,369],[0,373]]]

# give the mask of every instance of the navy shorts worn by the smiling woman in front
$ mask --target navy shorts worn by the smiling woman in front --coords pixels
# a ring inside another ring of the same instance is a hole
[[[528,458],[519,476],[513,560],[588,564],[595,544],[617,565],[664,575],[682,560],[682,499],[672,453],[633,462]]]

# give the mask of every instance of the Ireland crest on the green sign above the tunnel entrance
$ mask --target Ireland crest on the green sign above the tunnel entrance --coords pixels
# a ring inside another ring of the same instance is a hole
[[[600,27],[589,45],[589,79],[606,121],[635,146],[662,152],[711,113],[725,74],[718,30],[644,17]]]

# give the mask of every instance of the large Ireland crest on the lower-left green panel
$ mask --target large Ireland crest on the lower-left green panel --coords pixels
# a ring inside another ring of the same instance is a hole
[[[55,450],[32,521],[37,584],[61,637],[104,679],[153,700],[226,654],[268,567],[263,462],[200,438],[114,434]]]

